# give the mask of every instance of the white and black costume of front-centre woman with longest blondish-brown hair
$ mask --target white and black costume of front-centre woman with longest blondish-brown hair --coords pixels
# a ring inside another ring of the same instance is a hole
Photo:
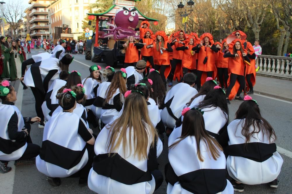
[[[106,127],[109,128],[108,125]],[[88,175],[88,187],[96,193],[153,193],[155,187],[158,187],[156,172],[158,171],[157,157],[162,152],[161,141],[158,139],[153,147],[150,147],[151,142],[148,142],[148,160],[138,160],[133,154],[134,144],[132,144],[132,153],[124,153],[121,144],[114,156],[114,153],[109,155],[107,145],[111,131],[106,127],[100,131],[94,145],[97,156]],[[133,129],[131,130],[133,134]],[[127,131],[127,137],[129,131],[130,129]],[[150,139],[152,138],[149,137]],[[134,142],[133,136],[131,142]],[[126,150],[129,151],[129,145],[126,146]],[[162,175],[161,172],[159,173]]]

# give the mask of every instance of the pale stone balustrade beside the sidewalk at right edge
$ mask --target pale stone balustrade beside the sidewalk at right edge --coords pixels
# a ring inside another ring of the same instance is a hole
[[[292,79],[291,57],[259,55],[256,65],[260,67],[257,73]]]

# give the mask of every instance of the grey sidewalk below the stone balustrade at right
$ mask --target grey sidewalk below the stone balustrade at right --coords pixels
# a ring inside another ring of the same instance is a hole
[[[255,93],[292,101],[292,81],[272,77],[256,76]]]

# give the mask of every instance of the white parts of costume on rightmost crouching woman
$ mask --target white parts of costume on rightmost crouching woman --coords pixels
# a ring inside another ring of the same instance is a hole
[[[244,121],[245,119],[237,119],[233,120],[228,125],[228,145],[245,143],[246,138],[241,134]],[[253,126],[251,126],[250,131],[253,131],[253,129]],[[258,131],[258,129],[255,131]],[[263,134],[263,131],[260,131],[251,136],[249,143],[263,143],[263,145],[268,145],[270,144],[270,140],[267,134]],[[272,139],[271,143],[274,143]],[[262,162],[240,156],[228,156],[226,161],[230,177],[248,185],[263,184],[273,181],[280,174],[282,164],[283,159],[278,152],[274,152],[270,158]]]

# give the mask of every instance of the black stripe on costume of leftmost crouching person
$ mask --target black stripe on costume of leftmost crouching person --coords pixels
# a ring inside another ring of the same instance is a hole
[[[11,154],[25,145],[27,138],[15,140],[15,142],[0,137],[0,151],[4,154]]]

